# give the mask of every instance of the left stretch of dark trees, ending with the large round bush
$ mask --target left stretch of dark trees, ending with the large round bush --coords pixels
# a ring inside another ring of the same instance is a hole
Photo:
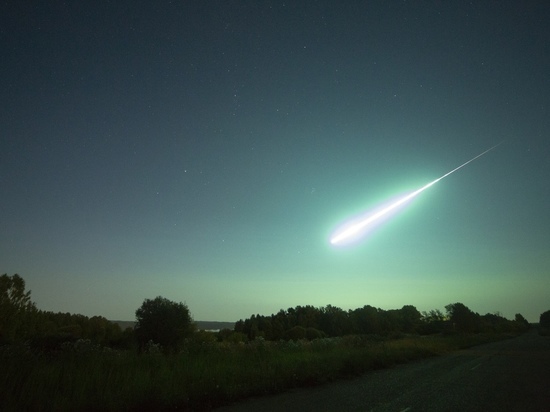
[[[189,308],[161,296],[145,299],[136,310],[135,327],[124,331],[102,316],[39,310],[25,291],[21,276],[0,276],[0,347],[24,344],[38,352],[61,353],[81,348],[134,349],[173,353],[187,343],[223,340],[197,331]]]

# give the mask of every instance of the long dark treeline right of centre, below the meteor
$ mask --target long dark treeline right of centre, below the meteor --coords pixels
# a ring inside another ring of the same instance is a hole
[[[437,309],[421,313],[412,305],[391,310],[366,305],[348,311],[332,305],[296,306],[270,316],[241,319],[235,324],[235,332],[249,340],[311,340],[360,334],[516,333],[529,328],[529,322],[519,313],[508,320],[499,313],[479,315],[462,303],[449,304],[445,309],[443,314]]]

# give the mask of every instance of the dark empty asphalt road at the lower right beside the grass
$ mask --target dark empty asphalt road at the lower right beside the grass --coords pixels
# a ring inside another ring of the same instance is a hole
[[[550,411],[550,337],[533,329],[516,338],[217,411]]]

